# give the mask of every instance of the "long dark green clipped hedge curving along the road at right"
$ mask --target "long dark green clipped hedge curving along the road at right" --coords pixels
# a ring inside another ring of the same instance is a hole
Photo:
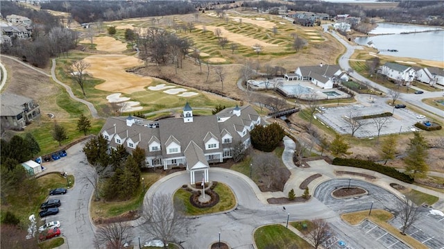
[[[334,158],[333,165],[351,166],[361,169],[370,169],[370,171],[376,171],[384,175],[388,175],[391,178],[398,179],[402,182],[413,183],[413,178],[406,173],[402,173],[395,168],[377,164],[375,162],[359,160],[359,159],[347,159],[347,158]]]

